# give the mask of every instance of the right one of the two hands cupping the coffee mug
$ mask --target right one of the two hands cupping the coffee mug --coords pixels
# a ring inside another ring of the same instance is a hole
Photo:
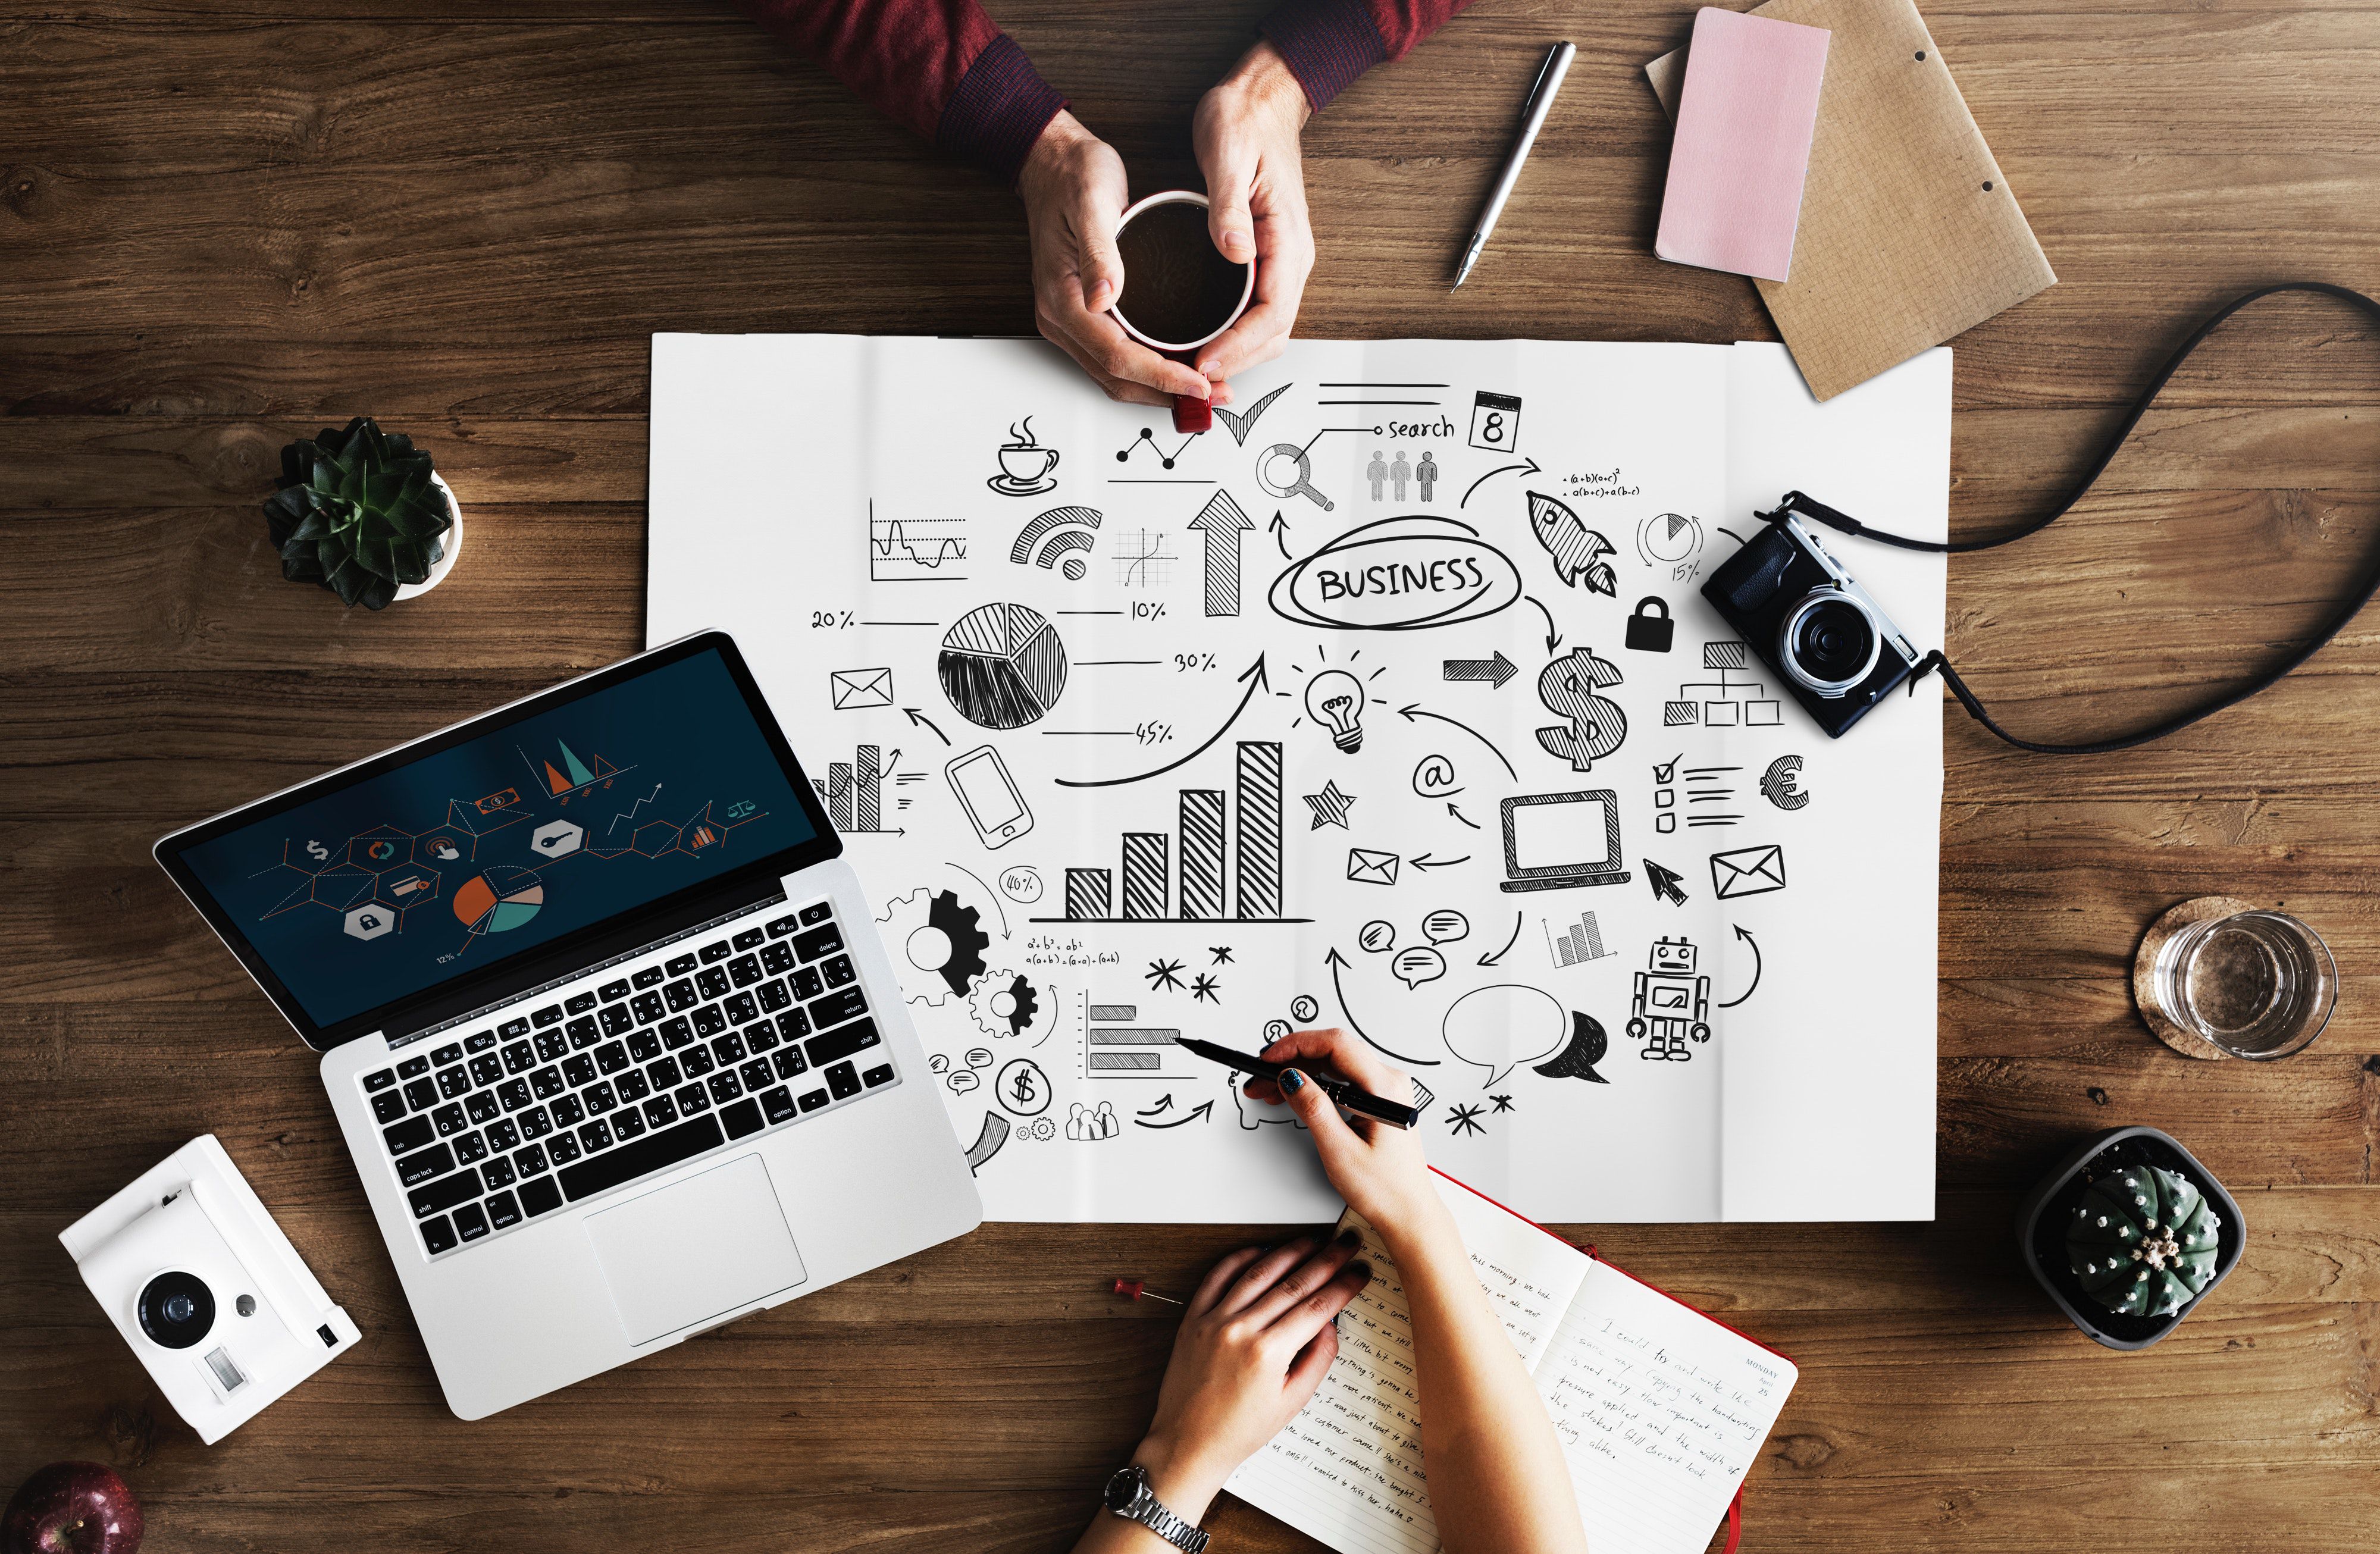
[[[1207,174],[1207,231],[1226,259],[1257,262],[1257,293],[1240,319],[1202,345],[1197,369],[1223,383],[1271,362],[1290,343],[1314,274],[1307,171],[1297,133],[1311,117],[1307,88],[1271,43],[1247,50],[1190,119]]]

